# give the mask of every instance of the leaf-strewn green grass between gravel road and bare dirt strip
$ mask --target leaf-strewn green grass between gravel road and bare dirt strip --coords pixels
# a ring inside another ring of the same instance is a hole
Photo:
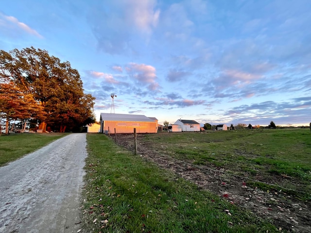
[[[87,149],[86,232],[277,232],[271,223],[147,163],[103,134],[87,134]]]

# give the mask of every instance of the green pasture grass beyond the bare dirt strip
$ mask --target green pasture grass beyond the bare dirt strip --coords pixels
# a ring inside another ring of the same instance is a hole
[[[251,179],[259,175],[289,189],[296,183],[295,190],[305,193],[297,192],[297,198],[311,199],[310,129],[159,133],[141,140],[159,153],[193,165],[222,167]]]

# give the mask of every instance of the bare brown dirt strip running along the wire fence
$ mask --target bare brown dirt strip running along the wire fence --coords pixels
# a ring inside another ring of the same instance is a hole
[[[161,145],[141,140],[143,136],[144,134],[138,134],[137,137],[139,156],[154,162],[161,168],[171,170],[180,177],[196,183],[199,187],[223,197],[234,205],[250,210],[256,216],[269,219],[280,232],[311,232],[310,201],[297,200],[287,194],[286,190],[279,190],[277,186],[269,191],[250,187],[247,185],[250,180],[242,176],[228,174],[222,167],[196,166],[186,161],[176,160],[166,154],[165,150],[161,150]],[[133,134],[118,135],[117,143],[134,151]],[[241,151],[241,153],[243,152]],[[289,178],[258,176],[256,179],[261,182],[281,184]]]

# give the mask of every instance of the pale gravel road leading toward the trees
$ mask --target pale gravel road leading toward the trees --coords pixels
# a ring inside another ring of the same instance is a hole
[[[0,167],[0,232],[76,233],[86,155],[74,133]]]

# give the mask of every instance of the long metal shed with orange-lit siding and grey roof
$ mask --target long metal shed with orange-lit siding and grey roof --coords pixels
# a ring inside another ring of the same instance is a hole
[[[157,119],[144,115],[101,113],[101,133],[156,133]]]

